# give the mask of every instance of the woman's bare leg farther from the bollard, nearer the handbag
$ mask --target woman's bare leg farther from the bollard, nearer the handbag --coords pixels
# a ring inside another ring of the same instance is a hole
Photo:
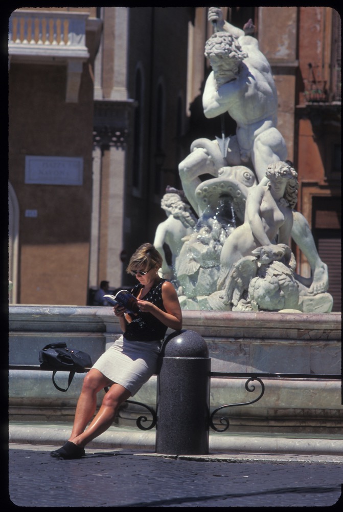
[[[93,368],[83,380],[81,394],[79,396],[73,430],[69,441],[84,432],[87,424],[93,418],[97,407],[97,393],[112,382],[99,370]]]

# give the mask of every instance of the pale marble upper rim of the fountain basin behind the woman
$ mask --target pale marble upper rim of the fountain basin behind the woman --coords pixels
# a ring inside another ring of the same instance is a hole
[[[184,329],[200,336],[280,339],[341,339],[341,313],[182,311]],[[29,322],[36,320],[37,322]],[[29,322],[29,323],[28,323]],[[31,325],[30,325],[31,324]],[[119,332],[111,307],[13,305],[10,331]]]

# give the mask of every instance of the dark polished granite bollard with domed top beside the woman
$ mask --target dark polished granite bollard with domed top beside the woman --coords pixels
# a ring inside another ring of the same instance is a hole
[[[166,338],[157,377],[156,453],[209,453],[208,355],[205,340],[194,331],[181,330]]]

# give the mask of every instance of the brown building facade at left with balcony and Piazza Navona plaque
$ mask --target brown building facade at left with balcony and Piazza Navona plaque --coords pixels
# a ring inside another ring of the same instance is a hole
[[[92,215],[92,63],[101,21],[19,9],[9,25],[11,302],[85,304]]]

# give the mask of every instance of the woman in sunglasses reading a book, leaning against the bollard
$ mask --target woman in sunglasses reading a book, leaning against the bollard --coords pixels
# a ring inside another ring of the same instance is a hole
[[[132,294],[137,298],[140,312],[129,314],[119,304],[113,308],[123,335],[84,377],[72,434],[59,450],[51,452],[52,457],[78,459],[85,455],[86,444],[109,428],[120,405],[156,373],[167,328],[179,330],[182,327],[176,290],[170,281],[159,277],[161,266],[161,254],[152,244],[141,245],[132,255],[126,270],[139,282]],[[97,393],[106,386],[110,389],[94,416]]]

